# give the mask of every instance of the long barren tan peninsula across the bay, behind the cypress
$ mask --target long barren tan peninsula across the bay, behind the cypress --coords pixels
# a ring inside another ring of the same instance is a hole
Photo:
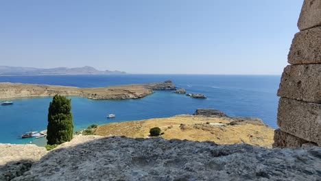
[[[153,90],[176,90],[176,86],[170,80],[150,84],[128,84],[97,88],[0,82],[0,99],[47,97],[56,94],[80,96],[88,99],[139,99],[151,95],[154,93]]]

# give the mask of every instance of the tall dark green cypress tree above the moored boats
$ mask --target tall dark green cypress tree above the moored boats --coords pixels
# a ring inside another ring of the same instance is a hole
[[[73,138],[73,114],[71,114],[71,99],[55,95],[49,104],[47,144],[55,145]]]

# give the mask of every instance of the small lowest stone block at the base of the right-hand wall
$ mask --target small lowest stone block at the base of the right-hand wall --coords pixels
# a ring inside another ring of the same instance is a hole
[[[308,141],[305,141],[301,138],[298,138],[296,136],[293,136],[291,134],[288,134],[286,132],[281,131],[280,129],[274,130],[274,143],[273,147],[302,147],[305,143],[308,143]]]

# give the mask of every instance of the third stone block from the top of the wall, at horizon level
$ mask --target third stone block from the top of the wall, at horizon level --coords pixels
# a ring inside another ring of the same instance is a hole
[[[278,96],[321,103],[321,64],[285,67]]]

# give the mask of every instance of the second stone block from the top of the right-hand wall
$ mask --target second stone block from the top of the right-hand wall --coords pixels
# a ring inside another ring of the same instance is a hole
[[[321,27],[307,29],[294,36],[287,62],[289,64],[321,63]]]

